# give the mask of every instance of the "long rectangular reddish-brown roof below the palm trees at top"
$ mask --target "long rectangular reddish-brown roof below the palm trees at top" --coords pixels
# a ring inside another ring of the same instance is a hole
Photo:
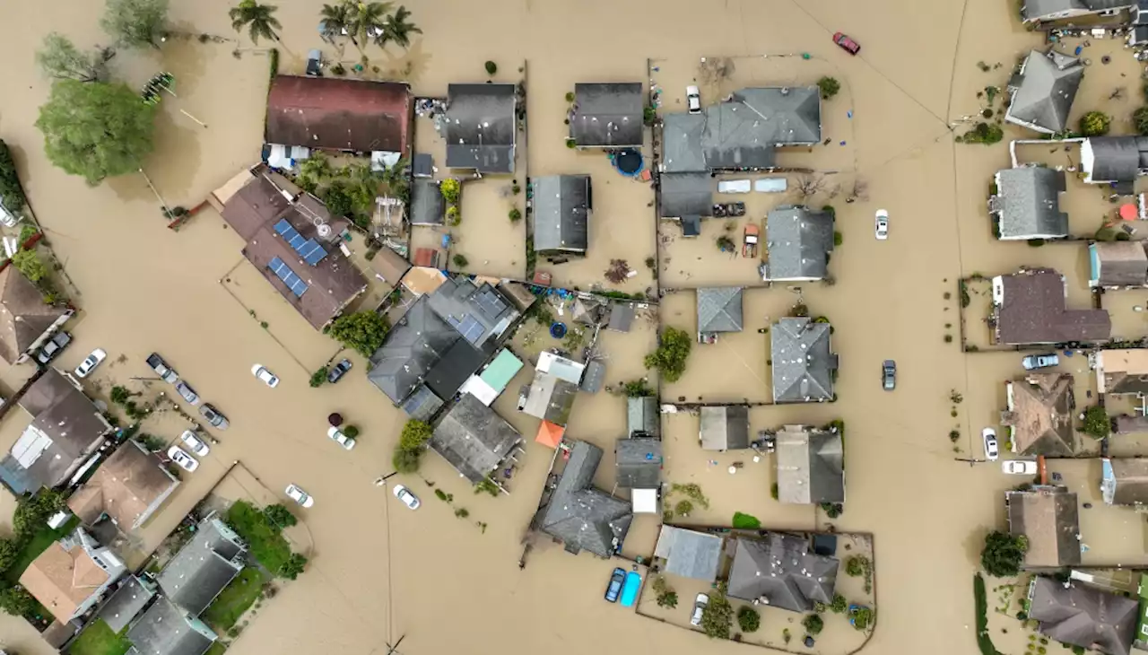
[[[405,153],[411,106],[405,84],[280,75],[267,93],[266,141]]]

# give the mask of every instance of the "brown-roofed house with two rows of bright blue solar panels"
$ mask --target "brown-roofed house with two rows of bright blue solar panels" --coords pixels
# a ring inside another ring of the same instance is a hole
[[[350,222],[333,217],[310,193],[278,182],[257,165],[241,174],[238,191],[216,191],[223,218],[247,241],[243,256],[316,330],[366,291],[363,273],[340,246]],[[227,187],[235,186],[235,180]]]

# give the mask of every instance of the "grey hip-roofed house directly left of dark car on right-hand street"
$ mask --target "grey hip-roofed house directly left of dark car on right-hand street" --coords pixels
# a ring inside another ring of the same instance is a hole
[[[829,323],[808,317],[781,318],[769,331],[774,402],[833,399],[837,355],[830,350]]]

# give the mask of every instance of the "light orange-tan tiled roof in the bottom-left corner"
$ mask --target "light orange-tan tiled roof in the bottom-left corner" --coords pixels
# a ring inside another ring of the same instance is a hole
[[[107,581],[108,573],[84,548],[75,546],[67,550],[59,541],[48,546],[20,577],[28,593],[64,622]]]

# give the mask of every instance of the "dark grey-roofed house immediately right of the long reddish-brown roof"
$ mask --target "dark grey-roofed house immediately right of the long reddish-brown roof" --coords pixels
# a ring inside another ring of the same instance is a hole
[[[447,167],[514,172],[517,97],[513,84],[447,87]]]

